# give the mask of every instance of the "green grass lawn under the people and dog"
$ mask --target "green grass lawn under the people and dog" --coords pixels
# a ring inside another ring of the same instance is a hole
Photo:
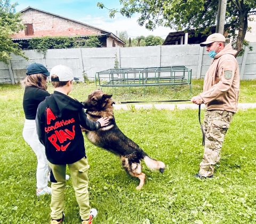
[[[105,88],[118,100],[186,99],[202,91],[186,86]],[[255,102],[256,81],[242,81],[240,102]],[[94,84],[75,84],[73,97],[84,100]],[[49,87],[49,92],[52,92]],[[180,91],[178,91],[180,90]],[[49,223],[50,196],[36,197],[36,157],[22,138],[23,89],[0,85],[0,223]],[[151,172],[137,191],[138,179],[122,169],[118,157],[85,141],[91,165],[90,203],[97,223],[256,223],[256,109],[239,110],[227,132],[214,179],[198,180],[203,156],[197,110],[116,110],[119,128],[151,157],[167,165],[164,174]],[[69,172],[69,171],[68,171]],[[65,192],[66,222],[80,223],[71,180]]]

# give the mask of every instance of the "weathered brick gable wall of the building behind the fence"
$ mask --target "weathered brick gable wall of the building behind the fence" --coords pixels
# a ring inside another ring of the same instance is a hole
[[[25,31],[22,30],[13,38],[101,34],[100,30],[92,27],[34,9],[23,12],[21,18],[24,24],[33,24],[34,35],[25,35]]]

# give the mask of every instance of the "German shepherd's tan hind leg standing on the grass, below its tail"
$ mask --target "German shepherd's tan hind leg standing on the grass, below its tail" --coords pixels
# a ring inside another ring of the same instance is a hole
[[[129,159],[127,157],[121,157],[122,165],[127,173],[129,173],[132,177],[137,177],[140,180],[140,184],[136,187],[136,190],[140,190],[146,179],[146,174],[142,173],[142,167],[140,163],[129,163]]]

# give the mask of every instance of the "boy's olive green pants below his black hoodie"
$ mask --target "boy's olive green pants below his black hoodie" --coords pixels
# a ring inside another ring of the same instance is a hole
[[[52,182],[51,217],[61,219],[64,211],[64,190],[66,186],[66,164],[57,165],[49,163],[56,183]],[[91,207],[89,205],[88,193],[88,169],[89,164],[84,157],[79,161],[67,164],[69,167],[73,188],[76,194],[76,201],[80,207],[82,220],[89,219]]]

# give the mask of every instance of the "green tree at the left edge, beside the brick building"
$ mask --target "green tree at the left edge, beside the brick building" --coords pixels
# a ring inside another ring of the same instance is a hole
[[[27,59],[18,43],[12,42],[12,35],[24,29],[20,14],[15,13],[17,3],[10,0],[0,0],[0,61],[5,63],[11,59],[10,53],[20,55]]]

